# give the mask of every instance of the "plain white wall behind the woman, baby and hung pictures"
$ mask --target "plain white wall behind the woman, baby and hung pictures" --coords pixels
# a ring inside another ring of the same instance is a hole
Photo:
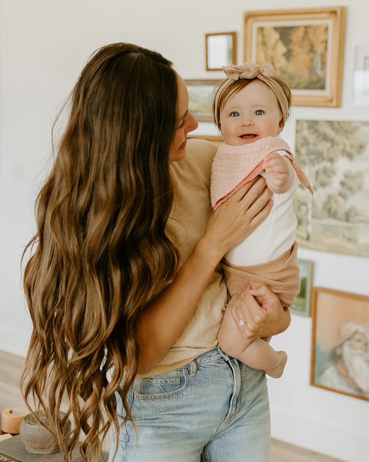
[[[242,12],[294,8],[295,0],[1,0],[0,349],[25,354],[30,334],[20,283],[20,256],[34,232],[33,204],[47,170],[57,106],[88,55],[101,45],[133,42],[156,49],[183,78],[206,72],[204,33],[237,31]],[[229,5],[229,7],[227,7]],[[323,6],[336,6],[326,0]],[[299,7],[320,7],[304,0]],[[342,107],[293,108],[283,138],[294,146],[296,119],[369,120],[353,107],[354,49],[369,44],[369,3],[347,0]],[[211,124],[198,133],[216,134]],[[369,295],[369,259],[299,249],[314,261],[314,285]],[[350,462],[369,453],[369,402],[309,386],[311,319],[298,316],[274,347],[289,354],[283,377],[270,380],[273,436]],[[298,461],[297,461],[298,462]]]

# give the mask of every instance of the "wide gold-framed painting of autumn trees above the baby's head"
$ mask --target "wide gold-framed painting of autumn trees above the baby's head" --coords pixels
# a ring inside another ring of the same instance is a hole
[[[293,106],[341,107],[345,7],[246,11],[244,61],[271,63]]]

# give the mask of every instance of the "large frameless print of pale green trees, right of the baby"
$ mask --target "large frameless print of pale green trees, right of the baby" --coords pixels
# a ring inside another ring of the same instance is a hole
[[[301,247],[369,257],[369,122],[298,120],[294,210]]]

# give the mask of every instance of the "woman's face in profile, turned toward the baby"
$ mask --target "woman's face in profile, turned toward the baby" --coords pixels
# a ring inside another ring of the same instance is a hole
[[[198,123],[188,110],[188,92],[186,84],[178,74],[177,87],[177,124],[169,150],[169,162],[179,161],[185,157],[187,133],[190,133],[190,131],[198,127]]]

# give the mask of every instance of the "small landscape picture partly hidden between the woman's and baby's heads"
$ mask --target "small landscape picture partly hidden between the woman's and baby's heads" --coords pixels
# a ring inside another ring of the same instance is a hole
[[[189,93],[189,111],[197,122],[212,122],[216,87],[222,80],[185,80]]]

